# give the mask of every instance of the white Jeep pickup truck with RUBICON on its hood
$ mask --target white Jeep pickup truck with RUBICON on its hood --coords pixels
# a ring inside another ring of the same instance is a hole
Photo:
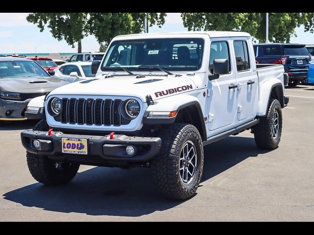
[[[249,129],[260,148],[280,142],[284,68],[256,65],[248,33],[117,36],[92,72],[48,94],[46,119],[21,133],[45,185],[69,182],[79,164],[145,166],[161,195],[183,200],[200,183],[204,145]]]

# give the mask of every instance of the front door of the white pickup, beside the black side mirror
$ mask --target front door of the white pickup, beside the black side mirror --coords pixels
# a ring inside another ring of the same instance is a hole
[[[209,53],[209,74],[213,74],[214,59],[228,59],[230,63],[230,38],[212,39]],[[230,63],[230,72],[220,75],[218,79],[208,83],[208,128],[223,132],[224,127],[230,128],[236,116],[236,85],[233,65]]]

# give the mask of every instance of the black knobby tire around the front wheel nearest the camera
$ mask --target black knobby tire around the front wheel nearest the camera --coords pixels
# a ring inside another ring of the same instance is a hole
[[[202,138],[193,125],[174,123],[163,129],[161,152],[152,161],[154,183],[159,193],[169,199],[185,200],[192,197],[201,181],[204,152]],[[180,173],[180,155],[183,145],[189,141],[196,150],[196,168],[190,181],[183,183]]]

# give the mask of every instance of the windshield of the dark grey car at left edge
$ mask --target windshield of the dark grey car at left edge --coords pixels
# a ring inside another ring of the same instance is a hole
[[[5,77],[49,77],[34,61],[0,61],[0,78]]]

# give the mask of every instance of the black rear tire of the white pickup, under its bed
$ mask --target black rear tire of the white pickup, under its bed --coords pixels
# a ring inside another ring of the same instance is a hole
[[[274,112],[278,114],[278,134],[273,137]],[[275,149],[278,147],[282,132],[282,111],[280,102],[277,99],[270,99],[265,117],[260,118],[260,123],[254,126],[254,138],[258,147],[262,149]]]

